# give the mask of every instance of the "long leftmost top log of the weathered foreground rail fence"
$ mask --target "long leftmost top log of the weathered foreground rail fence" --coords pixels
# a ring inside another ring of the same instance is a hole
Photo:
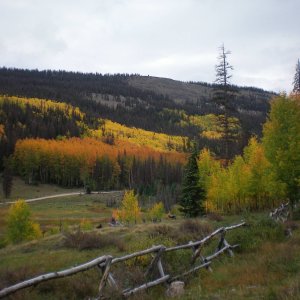
[[[100,263],[106,261],[107,258],[108,258],[108,256],[101,256],[92,261],[89,261],[87,263],[81,264],[76,267],[72,267],[72,268],[69,268],[69,269],[66,269],[63,271],[59,271],[59,272],[43,274],[43,275],[31,278],[31,279],[25,280],[23,282],[20,282],[15,285],[12,285],[10,287],[2,289],[0,291],[0,298],[11,295],[11,294],[15,293],[16,291],[27,288],[29,286],[33,286],[33,285],[36,286],[37,284],[39,284],[43,281],[48,281],[48,280],[61,278],[61,277],[67,277],[67,276],[74,275],[79,272],[89,270],[89,269],[99,265]]]

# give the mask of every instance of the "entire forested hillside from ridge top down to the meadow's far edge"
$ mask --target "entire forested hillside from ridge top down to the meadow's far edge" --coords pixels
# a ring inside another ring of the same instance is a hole
[[[0,168],[27,183],[134,188],[174,203],[194,142],[218,159],[233,158],[251,135],[261,136],[274,94],[232,86],[225,133],[225,110],[214,100],[217,87],[128,74],[1,68]]]

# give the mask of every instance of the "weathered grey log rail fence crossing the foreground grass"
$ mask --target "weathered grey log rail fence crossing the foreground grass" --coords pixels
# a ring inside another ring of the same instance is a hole
[[[210,235],[203,238],[202,240],[199,240],[196,242],[191,241],[188,244],[179,245],[179,246],[175,246],[175,247],[166,248],[164,245],[159,245],[159,246],[153,246],[149,249],[145,249],[142,251],[127,254],[122,257],[113,258],[110,255],[100,256],[98,258],[95,258],[92,261],[89,261],[87,263],[84,263],[84,264],[63,270],[63,271],[47,273],[44,275],[40,275],[40,276],[31,278],[29,280],[17,283],[10,287],[6,287],[0,291],[0,298],[9,296],[21,289],[24,289],[24,288],[27,288],[30,286],[36,286],[37,284],[44,282],[44,281],[57,279],[57,278],[61,278],[61,277],[66,277],[66,276],[71,276],[76,273],[83,272],[83,271],[89,270],[94,267],[98,267],[102,272],[102,276],[101,276],[101,280],[99,283],[98,296],[95,299],[101,299],[101,297],[103,295],[103,289],[104,289],[106,283],[108,283],[112,288],[119,290],[117,281],[115,280],[115,278],[111,272],[112,265],[115,265],[115,264],[118,264],[121,262],[125,262],[127,260],[130,260],[130,259],[133,259],[133,258],[136,258],[139,256],[151,254],[153,256],[153,259],[144,275],[145,275],[145,277],[147,277],[147,275],[152,273],[153,270],[157,267],[160,277],[153,281],[145,282],[144,284],[142,284],[140,286],[123,290],[122,291],[123,296],[129,297],[130,295],[133,295],[139,291],[148,289],[150,287],[156,286],[158,284],[175,281],[178,278],[192,274],[201,268],[206,268],[208,270],[211,270],[210,265],[211,265],[211,261],[213,259],[217,258],[219,255],[221,255],[225,252],[228,252],[228,254],[230,256],[233,256],[232,250],[239,246],[239,245],[231,246],[225,239],[226,233],[230,230],[242,227],[245,224],[246,224],[245,222],[242,222],[242,223],[228,226],[228,227],[221,227],[221,228],[215,230],[214,232],[212,232]],[[216,251],[209,256],[203,257],[201,255],[203,246],[217,235],[220,235],[220,241],[219,241]],[[164,253],[171,252],[171,251],[177,251],[177,250],[184,250],[184,249],[192,249],[193,253],[192,253],[192,259],[191,259],[191,269],[183,272],[182,274],[178,274],[173,277],[171,277],[169,274],[165,274],[163,265],[162,265],[162,259],[163,259]],[[198,258],[200,259],[200,264],[195,266],[195,263],[197,262]]]

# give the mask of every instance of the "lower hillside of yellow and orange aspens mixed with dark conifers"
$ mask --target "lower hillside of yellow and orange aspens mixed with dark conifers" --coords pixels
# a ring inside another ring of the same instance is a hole
[[[62,102],[8,96],[0,96],[0,129],[3,178],[9,171],[29,184],[134,188],[160,193],[167,206],[178,198],[187,137],[129,128]]]

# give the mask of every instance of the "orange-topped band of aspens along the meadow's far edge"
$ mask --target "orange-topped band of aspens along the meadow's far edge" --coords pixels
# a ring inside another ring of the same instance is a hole
[[[185,157],[128,143],[109,145],[92,138],[71,138],[20,140],[12,160],[16,173],[31,184],[130,188],[155,194],[160,184],[180,184]]]

